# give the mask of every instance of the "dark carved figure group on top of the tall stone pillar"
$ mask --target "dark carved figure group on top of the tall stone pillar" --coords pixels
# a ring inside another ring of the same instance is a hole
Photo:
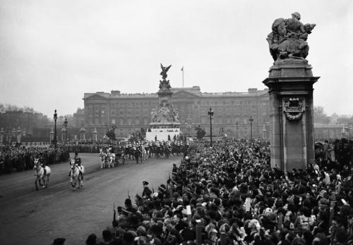
[[[292,13],[292,18],[278,18],[273,22],[272,32],[267,41],[275,65],[281,63],[307,63],[309,45],[306,42],[316,24],[300,22],[300,14]]]

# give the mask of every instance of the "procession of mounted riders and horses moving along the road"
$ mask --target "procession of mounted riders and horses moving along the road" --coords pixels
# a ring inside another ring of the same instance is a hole
[[[133,142],[124,145],[109,145],[100,148],[99,163],[100,168],[116,168],[119,164],[124,165],[127,161],[136,161],[142,163],[147,161],[151,156],[160,158],[165,156],[174,156],[183,153],[189,143],[184,142]],[[77,153],[76,153],[77,156]],[[70,185],[74,188],[83,187],[83,179],[85,175],[85,168],[80,163],[80,158],[70,158]],[[38,184],[42,188],[47,188],[49,184],[49,177],[52,170],[48,165],[43,165],[41,158],[37,157],[34,161],[35,170],[35,189],[39,190]]]

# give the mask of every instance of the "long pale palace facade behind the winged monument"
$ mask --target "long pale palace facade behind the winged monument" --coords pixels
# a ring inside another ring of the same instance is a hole
[[[205,93],[200,87],[172,88],[172,103],[179,109],[181,131],[196,135],[194,128],[200,125],[210,134],[208,111],[214,111],[213,136],[228,134],[233,137],[268,137],[270,121],[268,90],[248,89],[248,92]],[[107,128],[116,126],[116,137],[148,128],[151,111],[158,105],[157,93],[123,94],[117,90],[110,93],[84,94],[84,127],[86,139],[92,138],[96,129],[98,139]],[[250,122],[250,118],[253,121]]]

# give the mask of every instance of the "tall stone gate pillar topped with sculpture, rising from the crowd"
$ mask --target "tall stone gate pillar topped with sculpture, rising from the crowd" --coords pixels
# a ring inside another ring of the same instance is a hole
[[[316,24],[301,23],[301,15],[276,18],[267,41],[273,66],[263,83],[270,96],[271,166],[282,171],[306,170],[314,161],[313,84],[306,56]]]

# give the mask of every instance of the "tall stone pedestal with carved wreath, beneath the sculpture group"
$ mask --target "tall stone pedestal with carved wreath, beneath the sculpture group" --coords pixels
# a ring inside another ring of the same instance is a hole
[[[271,166],[291,172],[314,161],[311,65],[273,65],[263,83],[270,95]]]

